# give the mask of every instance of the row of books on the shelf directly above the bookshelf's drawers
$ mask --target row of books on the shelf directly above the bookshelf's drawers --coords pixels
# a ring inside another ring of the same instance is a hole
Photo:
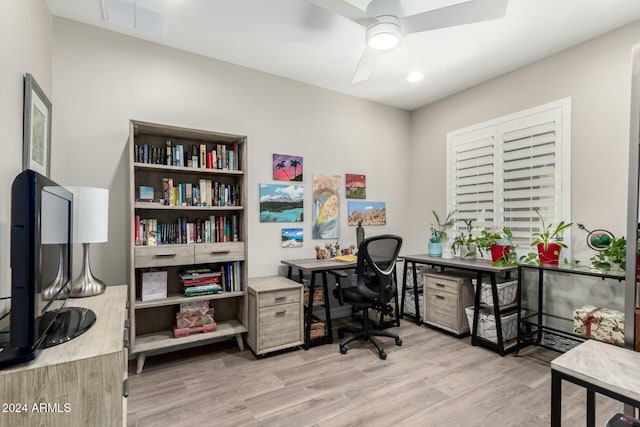
[[[186,243],[237,242],[238,215],[211,215],[208,219],[178,217],[176,223],[159,223],[156,218],[136,215],[134,236],[136,246],[158,246]]]

